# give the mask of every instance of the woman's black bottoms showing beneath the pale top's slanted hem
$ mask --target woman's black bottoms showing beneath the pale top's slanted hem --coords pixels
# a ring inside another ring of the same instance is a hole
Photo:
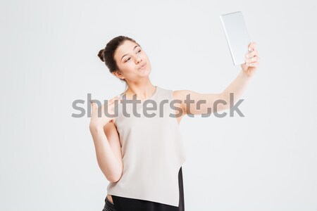
[[[178,207],[156,203],[149,200],[139,200],[135,198],[125,198],[111,195],[113,203],[106,198],[106,204],[104,205],[103,211],[185,211],[182,167],[180,167],[180,171],[178,172],[178,186],[180,189],[180,202]]]

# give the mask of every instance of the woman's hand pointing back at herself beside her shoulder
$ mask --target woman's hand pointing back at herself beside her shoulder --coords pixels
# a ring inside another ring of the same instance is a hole
[[[98,107],[97,103],[92,103],[92,115],[90,118],[90,124],[89,128],[90,129],[98,129],[98,128],[104,128],[104,125],[106,125],[108,122],[115,122],[116,117],[107,117],[105,115],[105,106],[107,113],[109,115],[114,114],[114,107],[115,107],[115,100],[118,100],[120,98],[119,96],[115,96],[114,98],[111,98],[110,100],[107,101],[107,104],[103,104],[100,107]],[[101,115],[98,116],[98,114],[101,113]]]

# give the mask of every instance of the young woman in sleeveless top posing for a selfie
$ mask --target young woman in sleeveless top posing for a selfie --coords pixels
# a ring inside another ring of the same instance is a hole
[[[230,93],[234,94],[234,102],[240,98],[259,66],[255,43],[246,47],[249,52],[241,72],[217,94],[154,86],[149,79],[151,63],[147,54],[129,37],[115,37],[99,51],[99,58],[110,72],[126,84],[123,94],[104,105],[92,103],[89,129],[99,167],[110,181],[104,211],[185,210],[181,166],[186,153],[178,127],[180,120],[184,115],[227,110],[234,104],[229,103]],[[149,103],[150,114],[145,108]]]

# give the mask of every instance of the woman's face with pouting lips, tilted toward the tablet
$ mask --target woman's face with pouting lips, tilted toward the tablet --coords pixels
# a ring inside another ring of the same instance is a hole
[[[137,81],[140,77],[147,77],[151,72],[151,63],[141,47],[130,40],[126,40],[116,49],[114,58],[119,72],[113,72],[121,79]],[[142,65],[145,66],[143,68]]]

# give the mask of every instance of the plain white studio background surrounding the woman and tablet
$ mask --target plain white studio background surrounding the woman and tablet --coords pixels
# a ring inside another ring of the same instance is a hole
[[[154,85],[217,93],[240,72],[219,18],[234,11],[261,64],[245,117],[182,119],[185,210],[317,210],[314,4],[1,0],[0,210],[102,210],[89,118],[71,117],[76,99],[125,89],[97,53],[132,37]]]

